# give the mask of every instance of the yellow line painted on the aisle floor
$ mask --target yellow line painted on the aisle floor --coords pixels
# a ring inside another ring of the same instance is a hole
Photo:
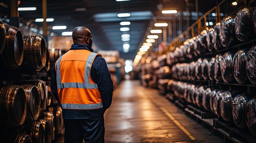
[[[195,137],[188,130],[186,130],[186,128],[177,119],[175,119],[175,117],[166,108],[163,106],[160,106],[159,108],[166,114],[167,117],[171,119],[171,121],[173,121],[173,123],[175,123],[180,128],[180,130],[189,136],[191,140],[196,140]]]

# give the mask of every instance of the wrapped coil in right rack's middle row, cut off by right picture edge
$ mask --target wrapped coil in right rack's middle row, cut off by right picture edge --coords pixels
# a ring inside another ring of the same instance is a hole
[[[247,52],[246,73],[252,84],[256,84],[256,46]]]

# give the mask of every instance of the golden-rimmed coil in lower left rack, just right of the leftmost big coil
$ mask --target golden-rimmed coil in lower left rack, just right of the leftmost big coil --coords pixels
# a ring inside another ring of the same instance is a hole
[[[40,114],[41,98],[37,88],[33,85],[21,85],[27,97],[27,113],[29,119],[37,120]]]

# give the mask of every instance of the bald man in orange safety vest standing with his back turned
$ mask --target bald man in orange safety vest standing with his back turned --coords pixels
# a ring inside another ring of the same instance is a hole
[[[112,102],[106,61],[92,53],[92,34],[73,30],[74,44],[52,67],[51,90],[63,110],[64,143],[104,143],[103,114]]]

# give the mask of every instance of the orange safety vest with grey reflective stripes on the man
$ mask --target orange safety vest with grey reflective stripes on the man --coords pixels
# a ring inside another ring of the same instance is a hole
[[[90,75],[97,55],[88,50],[70,50],[56,61],[57,92],[63,109],[103,107],[98,86]]]

